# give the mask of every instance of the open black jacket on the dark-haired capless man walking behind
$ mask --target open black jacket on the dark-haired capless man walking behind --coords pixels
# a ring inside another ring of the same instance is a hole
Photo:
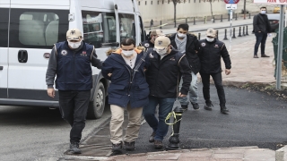
[[[170,36],[170,44],[172,47],[178,48],[177,43],[175,41],[177,34],[173,34]],[[197,52],[199,50],[199,43],[196,38],[196,36],[187,34],[187,47],[186,47],[186,55],[187,55],[187,61],[191,66],[192,72],[195,74],[200,71],[200,61],[199,57],[197,55]]]

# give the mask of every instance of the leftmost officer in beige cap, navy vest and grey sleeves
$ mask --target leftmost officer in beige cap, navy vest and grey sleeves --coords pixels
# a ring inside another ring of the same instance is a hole
[[[55,97],[53,86],[57,76],[60,113],[72,127],[70,150],[74,154],[81,154],[79,142],[91,97],[91,65],[100,69],[101,62],[97,59],[95,48],[83,42],[80,30],[68,30],[66,39],[55,44],[51,51],[46,82],[48,96]]]

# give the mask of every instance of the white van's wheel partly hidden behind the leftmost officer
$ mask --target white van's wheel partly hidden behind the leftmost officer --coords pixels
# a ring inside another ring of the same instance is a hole
[[[104,112],[106,103],[106,94],[104,85],[99,82],[95,91],[94,99],[90,102],[87,118],[99,119]]]

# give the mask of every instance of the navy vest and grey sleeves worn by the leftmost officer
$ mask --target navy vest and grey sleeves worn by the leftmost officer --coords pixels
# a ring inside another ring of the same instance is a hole
[[[90,90],[92,88],[91,65],[100,69],[101,62],[93,46],[82,42],[77,49],[68,47],[67,41],[55,44],[52,49],[46,82],[53,88],[55,76],[56,89]]]

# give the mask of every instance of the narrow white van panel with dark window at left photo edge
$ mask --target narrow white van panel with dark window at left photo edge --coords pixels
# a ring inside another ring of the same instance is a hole
[[[9,8],[10,8],[10,0],[1,0],[0,2],[0,98],[7,97]]]

